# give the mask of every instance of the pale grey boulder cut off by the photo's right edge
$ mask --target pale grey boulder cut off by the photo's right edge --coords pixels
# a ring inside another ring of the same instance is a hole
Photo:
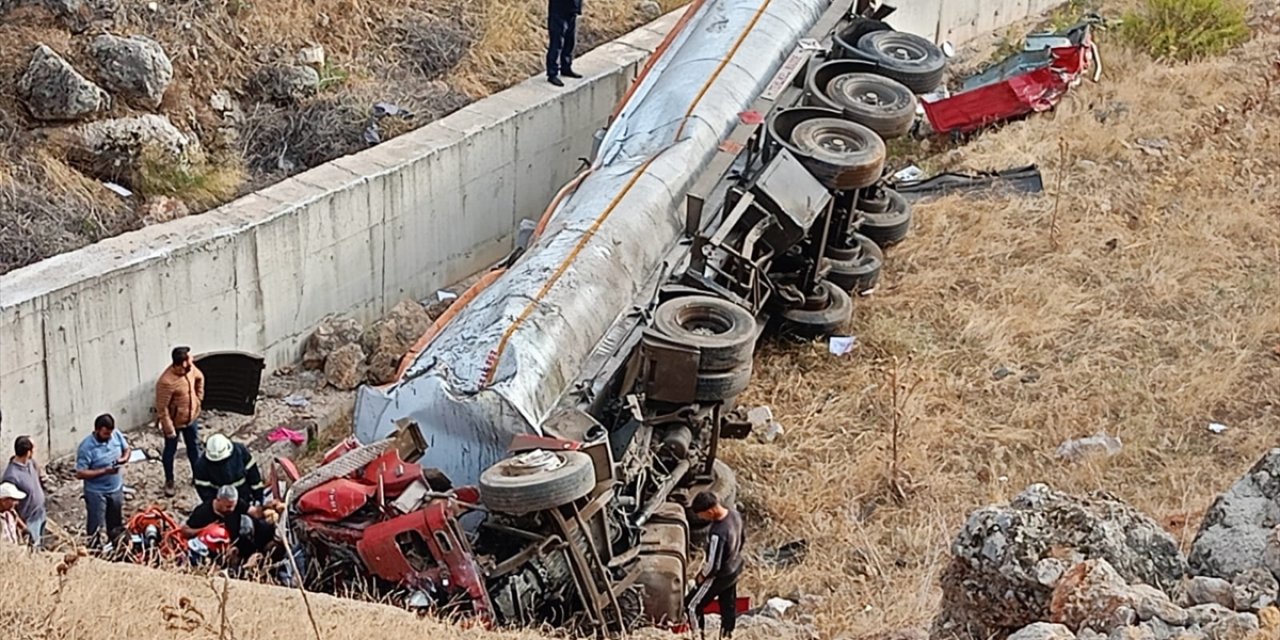
[[[1280,448],[1268,451],[1244,477],[1213,500],[1192,543],[1192,571],[1231,580],[1247,570],[1267,567],[1267,561],[1277,556],[1276,549],[1267,550],[1277,525]]]

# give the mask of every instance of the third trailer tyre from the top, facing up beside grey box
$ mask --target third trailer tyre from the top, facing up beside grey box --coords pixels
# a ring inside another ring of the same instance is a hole
[[[869,187],[884,170],[884,141],[867,127],[840,118],[810,118],[796,124],[791,145],[827,188]]]

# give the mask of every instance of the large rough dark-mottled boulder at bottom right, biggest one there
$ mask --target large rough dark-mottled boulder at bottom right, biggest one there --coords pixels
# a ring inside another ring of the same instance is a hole
[[[1079,498],[1042,484],[973,512],[951,554],[934,637],[1005,637],[1048,620],[1055,586],[1088,559],[1165,591],[1187,573],[1178,543],[1147,516],[1106,493]]]

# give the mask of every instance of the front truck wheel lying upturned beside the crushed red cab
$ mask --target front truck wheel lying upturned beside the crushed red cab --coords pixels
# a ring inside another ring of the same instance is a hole
[[[595,488],[595,465],[580,451],[535,449],[480,474],[480,502],[503,513],[532,513],[568,504]]]

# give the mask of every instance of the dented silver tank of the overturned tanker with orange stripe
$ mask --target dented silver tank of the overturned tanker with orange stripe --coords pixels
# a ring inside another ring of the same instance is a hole
[[[689,188],[828,4],[707,0],[636,87],[605,132],[593,173],[561,202],[545,233],[398,381],[361,388],[356,436],[374,442],[397,420],[413,420],[430,444],[421,463],[468,485],[504,457],[512,436],[543,434],[548,412],[680,238]]]

